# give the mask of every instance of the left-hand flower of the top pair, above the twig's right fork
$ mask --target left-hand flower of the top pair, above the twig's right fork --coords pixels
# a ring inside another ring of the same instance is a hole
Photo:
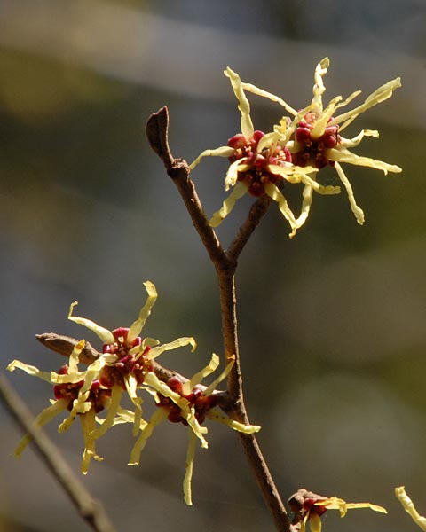
[[[233,210],[236,200],[247,192],[256,198],[267,195],[278,203],[281,214],[291,227],[290,237],[296,234],[306,221],[311,203],[312,190],[322,194],[340,192],[339,187],[322,186],[313,175],[318,168],[304,164],[304,168],[292,163],[291,153],[283,142],[279,131],[264,133],[255,130],[250,117],[250,105],[243,90],[240,76],[231,68],[226,68],[225,75],[230,79],[234,94],[238,100],[241,113],[241,133],[231,137],[226,146],[214,150],[205,150],[190,165],[195,168],[206,156],[227,157],[231,163],[225,176],[225,190],[233,191],[210,219],[209,224],[217,227]],[[311,176],[312,174],[312,176]],[[283,195],[284,184],[304,184],[301,214],[296,217]]]

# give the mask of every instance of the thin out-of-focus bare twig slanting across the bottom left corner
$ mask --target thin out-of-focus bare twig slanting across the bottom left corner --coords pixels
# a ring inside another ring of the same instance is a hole
[[[91,496],[83,482],[75,476],[43,430],[35,428],[34,419],[27,406],[2,374],[0,374],[0,398],[16,423],[31,436],[31,442],[44,464],[66,491],[83,520],[97,532],[114,532],[103,506]]]

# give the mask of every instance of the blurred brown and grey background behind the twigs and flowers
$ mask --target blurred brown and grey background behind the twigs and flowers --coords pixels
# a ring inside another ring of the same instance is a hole
[[[282,496],[304,487],[389,510],[342,522],[327,512],[328,532],[415,529],[393,489],[405,484],[426,513],[425,24],[424,0],[0,0],[2,367],[63,364],[39,332],[99,347],[67,321],[70,302],[106,328],[130,325],[150,279],[160,296],[146,335],[195,336],[195,353],[161,362],[198,371],[222,352],[216,278],[147,146],[149,114],[169,106],[172,152],[191,161],[240,130],[225,66],[296,108],[312,98],[325,56],[326,101],[357,89],[362,101],[400,75],[403,88],[345,131],[379,129],[357,153],[404,169],[345,166],[365,225],[344,193],[316,196],[289,240],[272,205],[241,255],[237,286],[248,411]],[[251,101],[256,129],[280,119],[280,106]],[[225,198],[226,168],[212,158],[193,172],[209,215]],[[323,176],[337,184],[331,168]],[[251,201],[219,228],[224,245]],[[35,414],[47,406],[46,383],[7,377]],[[33,450],[11,457],[20,432],[3,407],[0,420],[0,530],[87,530]],[[47,431],[78,471],[79,424],[61,435],[57,426]],[[159,427],[136,468],[126,465],[132,442],[127,427],[106,434],[104,462],[83,479],[118,531],[273,529],[226,427],[211,426],[209,451],[197,450],[192,508],[181,489],[185,428]]]

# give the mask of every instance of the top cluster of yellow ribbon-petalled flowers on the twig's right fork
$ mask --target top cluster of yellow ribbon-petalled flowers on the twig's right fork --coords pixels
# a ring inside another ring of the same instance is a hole
[[[356,137],[342,137],[343,129],[351,124],[360,113],[364,113],[385,99],[401,86],[399,78],[385,83],[375,90],[363,104],[346,113],[335,116],[337,109],[347,106],[353,98],[359,96],[357,90],[343,100],[341,96],[333,98],[323,106],[322,95],[326,88],[323,77],[327,74],[328,58],[322,59],[315,69],[313,98],[308,106],[299,111],[289,106],[282,98],[257,88],[250,83],[241,82],[240,76],[231,68],[225,75],[230,79],[234,94],[238,99],[241,113],[241,133],[230,138],[226,146],[214,150],[205,150],[190,165],[193,169],[206,156],[227,157],[231,163],[225,176],[225,189],[233,187],[233,192],[211,218],[210,225],[216,227],[232,211],[235,201],[246,192],[259,197],[268,195],[278,203],[280,212],[291,227],[290,237],[296,234],[306,221],[313,192],[319,194],[338,194],[339,186],[324,186],[318,183],[319,170],[327,166],[335,168],[342,182],[357,222],[364,223],[364,213],[357,205],[351,183],[343,172],[340,163],[350,163],[388,172],[400,172],[401,168],[359,156],[351,148],[359,145],[363,137],[379,137],[376,130],[363,129]],[[284,116],[272,132],[255,130],[250,117],[250,105],[246,92],[251,92],[283,106],[291,118]],[[286,184],[303,184],[302,207],[296,217],[283,194]]]

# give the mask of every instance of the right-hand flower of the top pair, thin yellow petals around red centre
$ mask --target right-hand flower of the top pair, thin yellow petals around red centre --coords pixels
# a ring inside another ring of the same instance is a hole
[[[315,68],[312,102],[301,111],[296,111],[283,99],[270,92],[258,89],[254,85],[243,82],[241,87],[243,90],[279,103],[288,113],[293,115],[293,119],[284,117],[280,124],[274,128],[275,131],[280,133],[281,142],[285,143],[291,153],[292,162],[302,168],[312,168],[312,166],[319,170],[327,166],[335,168],[348,195],[351,210],[357,222],[362,225],[364,223],[364,212],[357,205],[351,183],[343,172],[341,163],[375,168],[382,170],[385,175],[388,172],[399,173],[402,169],[382,160],[363,157],[351,151],[351,148],[357,147],[364,137],[378,138],[378,131],[375,129],[362,129],[356,137],[345,138],[342,136],[343,129],[346,129],[359,114],[390,98],[393,91],[401,86],[401,80],[398,77],[384,83],[384,85],[370,94],[363,104],[354,107],[351,111],[336,115],[338,109],[349,105],[354,98],[359,96],[361,91],[352,92],[351,96],[344,100],[342,96],[336,96],[331,99],[327,106],[324,106],[322,95],[326,87],[323,77],[327,74],[329,64],[329,59],[325,58]]]

